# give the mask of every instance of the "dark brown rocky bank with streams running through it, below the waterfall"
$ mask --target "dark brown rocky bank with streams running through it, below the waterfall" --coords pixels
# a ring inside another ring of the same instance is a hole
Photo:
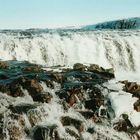
[[[140,139],[127,113],[116,121],[105,86],[113,69],[77,63],[73,68],[0,61],[0,140]],[[140,85],[120,81],[137,101]]]

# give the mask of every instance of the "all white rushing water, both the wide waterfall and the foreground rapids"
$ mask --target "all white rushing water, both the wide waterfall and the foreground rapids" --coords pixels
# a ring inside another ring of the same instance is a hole
[[[140,31],[139,30],[104,30],[104,31],[48,31],[44,33],[32,32],[1,32],[0,33],[0,59],[2,60],[18,60],[29,61],[36,64],[42,64],[45,67],[49,66],[72,66],[74,63],[84,64],[98,64],[105,68],[113,67],[115,70],[117,80],[128,79],[130,81],[140,82]],[[126,73],[127,72],[127,73]],[[75,81],[70,79],[70,81]],[[114,82],[115,81],[115,82]],[[122,113],[127,112],[134,126],[140,124],[140,115],[133,110],[133,103],[136,101],[132,99],[131,95],[124,93],[122,87],[116,84],[116,79],[107,83],[112,89],[116,88],[118,92],[110,93],[109,98],[112,102],[112,108],[115,111],[116,118]],[[54,89],[48,88],[45,83],[40,82],[43,87],[43,92],[49,92],[53,96],[50,104],[44,103],[29,111],[24,119],[25,126],[32,129],[29,122],[30,116],[36,119],[36,125],[57,125],[59,135],[63,139],[75,139],[66,133],[66,128],[60,123],[61,116],[70,116],[74,119],[84,122],[85,129],[94,127],[94,135],[87,131],[81,133],[83,140],[129,140],[130,138],[125,133],[118,133],[111,126],[96,125],[90,120],[86,120],[81,114],[70,108],[68,112],[62,107],[60,98],[56,96],[56,92],[61,89],[61,85],[55,83]],[[23,90],[23,89],[22,89]],[[21,103],[34,104],[32,98],[28,95],[26,90],[23,90],[24,97],[8,97],[0,94],[0,111],[4,112],[10,104],[18,105]],[[106,95],[106,91],[103,91]],[[121,98],[120,98],[121,97]],[[122,99],[127,99],[124,103]],[[120,105],[118,105],[120,103]],[[124,104],[123,104],[124,103]],[[80,105],[80,109],[82,105]],[[121,108],[121,106],[124,106]],[[10,111],[4,113],[3,132],[5,140],[9,140],[9,132],[7,128],[15,125],[22,129],[20,124],[11,120]],[[10,117],[9,117],[10,116]],[[136,119],[136,120],[135,120]],[[78,134],[78,131],[72,127],[69,128]],[[32,134],[31,134],[32,135]],[[47,135],[47,134],[46,134]],[[32,136],[31,136],[32,137]],[[22,135],[21,139],[27,138],[26,134]],[[50,138],[46,136],[46,140]],[[135,139],[135,138],[134,138]],[[137,137],[136,137],[137,139]]]

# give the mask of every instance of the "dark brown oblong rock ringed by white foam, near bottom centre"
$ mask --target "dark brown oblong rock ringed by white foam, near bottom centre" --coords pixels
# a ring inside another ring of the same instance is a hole
[[[61,117],[61,123],[63,124],[63,126],[74,126],[80,132],[83,131],[84,129],[83,128],[84,126],[81,120],[77,120],[69,116]]]

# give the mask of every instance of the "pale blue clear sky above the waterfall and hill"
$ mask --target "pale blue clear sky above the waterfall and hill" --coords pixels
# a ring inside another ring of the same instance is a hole
[[[140,17],[140,0],[0,0],[0,29],[56,28]]]

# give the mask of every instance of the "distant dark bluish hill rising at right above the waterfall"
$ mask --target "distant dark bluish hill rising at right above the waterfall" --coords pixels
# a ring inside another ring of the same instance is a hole
[[[82,27],[81,29],[140,29],[140,17],[108,21],[95,25],[87,25]]]

